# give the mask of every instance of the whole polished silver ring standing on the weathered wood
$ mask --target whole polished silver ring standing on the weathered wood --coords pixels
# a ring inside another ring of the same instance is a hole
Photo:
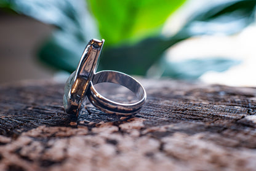
[[[104,44],[104,39],[92,39],[87,44],[78,68],[65,84],[63,106],[66,113],[78,116],[81,104],[89,99],[90,103],[108,114],[130,116],[138,112],[146,101],[146,91],[142,84],[131,76],[118,71],[100,71],[96,73],[98,59]],[[94,85],[102,82],[119,84],[131,90],[137,96],[135,103],[119,103],[112,101],[97,92]]]

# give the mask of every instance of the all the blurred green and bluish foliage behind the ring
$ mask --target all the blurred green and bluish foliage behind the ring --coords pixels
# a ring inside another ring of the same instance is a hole
[[[166,76],[198,78],[208,70],[201,65],[208,66],[210,70],[223,71],[236,64],[219,58],[214,62],[212,58],[210,62],[196,60],[179,65],[166,61],[164,52],[177,42],[194,36],[238,33],[255,21],[256,1],[218,1],[194,12],[173,36],[161,36],[159,31],[162,24],[182,3],[178,0],[88,0],[88,7],[86,1],[79,0],[0,0],[0,7],[9,7],[19,14],[55,25],[57,28],[39,50],[39,57],[50,65],[70,72],[76,69],[87,41],[99,39],[99,35],[106,40],[101,69],[145,75],[148,68],[155,66],[156,73],[162,70]],[[179,69],[186,65],[190,65],[188,68],[191,70]],[[192,70],[197,70],[197,74],[183,74]]]

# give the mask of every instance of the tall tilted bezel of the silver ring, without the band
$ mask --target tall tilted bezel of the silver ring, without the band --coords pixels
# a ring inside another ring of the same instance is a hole
[[[63,97],[63,105],[66,113],[78,115],[89,83],[97,70],[98,58],[100,57],[104,42],[104,39],[102,41],[97,39],[89,41],[82,53],[78,68],[70,75],[68,81],[66,81]]]

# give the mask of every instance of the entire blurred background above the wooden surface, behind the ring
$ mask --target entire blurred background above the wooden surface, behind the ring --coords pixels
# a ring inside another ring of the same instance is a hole
[[[99,70],[256,86],[255,0],[0,0],[0,83],[63,81],[90,39]]]

